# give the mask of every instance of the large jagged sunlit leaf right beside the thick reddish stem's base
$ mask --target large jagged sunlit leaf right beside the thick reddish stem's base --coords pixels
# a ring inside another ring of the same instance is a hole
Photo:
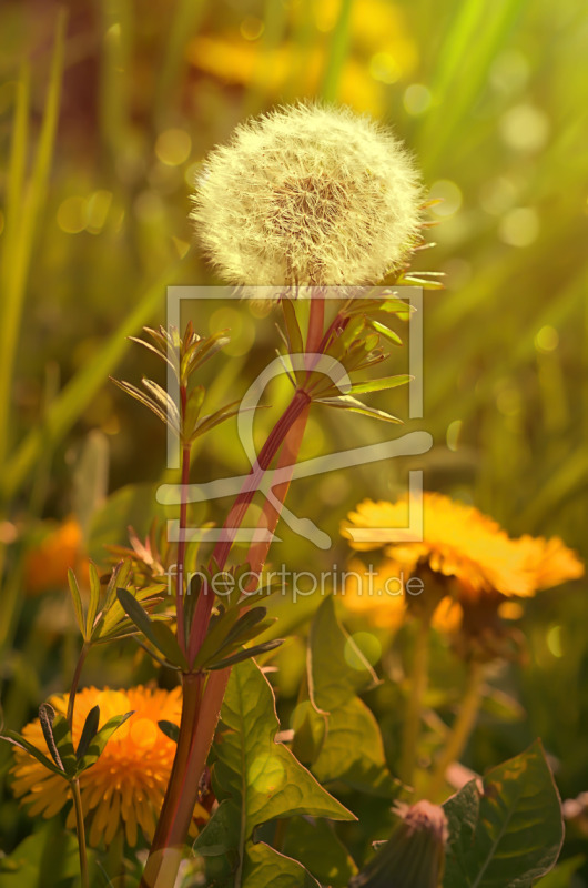
[[[290,749],[274,740],[280,727],[274,696],[254,660],[232,670],[221,724],[213,769],[221,805],[194,847],[199,854],[232,854],[239,861],[234,886],[241,888],[243,879],[253,878],[250,868],[265,867],[258,855],[245,860],[245,849],[261,824],[303,814],[336,820],[354,816],[316,783]],[[210,851],[211,846],[216,850]]]

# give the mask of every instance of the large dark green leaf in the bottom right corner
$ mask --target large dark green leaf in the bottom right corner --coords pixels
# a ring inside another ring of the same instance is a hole
[[[523,888],[548,872],[564,840],[559,794],[539,740],[444,805],[445,888]]]

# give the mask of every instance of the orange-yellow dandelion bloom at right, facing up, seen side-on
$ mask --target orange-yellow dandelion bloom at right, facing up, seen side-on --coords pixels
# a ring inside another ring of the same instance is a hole
[[[558,537],[514,539],[474,506],[437,493],[425,493],[422,508],[423,534],[418,539],[406,528],[410,512],[419,511],[420,502],[407,496],[396,503],[366,500],[342,526],[352,548],[384,554],[369,594],[355,579],[345,585],[347,607],[369,614],[375,625],[395,628],[406,607],[418,603],[416,596],[406,594],[409,577],[424,579],[423,595],[427,594],[427,579],[436,577],[438,605],[433,625],[448,634],[489,637],[497,630],[498,617],[515,619],[521,615],[520,607],[506,607],[515,604],[508,598],[530,597],[538,589],[584,574],[582,563]],[[349,569],[356,574],[366,574],[356,559],[352,565]],[[386,589],[393,588],[394,578],[404,591],[402,595]]]

